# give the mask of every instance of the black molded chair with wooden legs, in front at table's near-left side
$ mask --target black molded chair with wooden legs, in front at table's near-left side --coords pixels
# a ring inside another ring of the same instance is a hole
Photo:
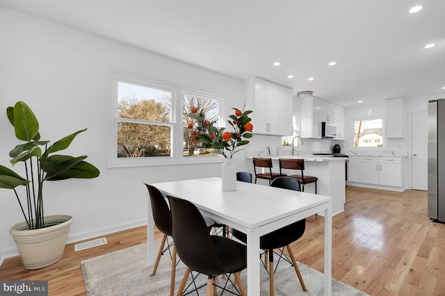
[[[187,266],[177,295],[182,295],[191,271],[206,274],[207,295],[216,295],[215,277],[220,274],[234,274],[238,288],[234,286],[238,295],[247,295],[240,272],[247,266],[247,248],[245,245],[226,238],[212,236],[207,231],[200,211],[197,207],[184,199],[168,197],[172,212],[172,235],[175,240],[177,254]],[[227,277],[227,281],[231,281]],[[233,282],[232,282],[233,283]],[[227,285],[226,285],[227,286]],[[223,288],[223,293],[225,290]]]

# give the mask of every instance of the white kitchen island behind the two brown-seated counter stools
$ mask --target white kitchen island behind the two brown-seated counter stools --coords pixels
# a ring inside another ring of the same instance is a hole
[[[252,156],[247,157],[246,167],[248,171],[252,173],[254,180],[254,171]],[[337,215],[344,211],[344,204],[346,202],[346,190],[345,190],[345,161],[347,158],[329,157],[329,156],[268,156],[272,159],[273,172],[280,172],[280,165],[278,163],[279,158],[302,158],[305,160],[304,174],[307,176],[316,176],[317,181],[317,194],[327,195],[332,197],[332,215]],[[258,169],[258,168],[257,168]],[[261,168],[259,168],[261,170]],[[265,169],[266,170],[266,169]],[[266,172],[266,171],[265,171]],[[283,174],[300,174],[298,170],[283,170]],[[257,184],[268,185],[267,180],[258,179]],[[305,192],[315,193],[314,183],[309,183],[305,186]],[[318,215],[324,215],[324,213],[318,213]]]

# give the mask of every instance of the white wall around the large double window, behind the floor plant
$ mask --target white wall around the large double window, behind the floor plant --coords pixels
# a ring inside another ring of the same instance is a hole
[[[66,153],[88,155],[99,178],[47,182],[44,188],[46,215],[74,217],[70,242],[146,224],[143,182],[220,176],[220,163],[108,169],[111,72],[223,95],[226,112],[242,106],[243,81],[3,8],[0,40],[0,163],[9,167],[8,153],[19,144],[6,117],[16,101],[31,106],[44,140],[88,128]],[[19,165],[13,170],[23,172]],[[0,189],[0,202],[1,262],[2,254],[17,254],[8,229],[23,218],[12,190]]]

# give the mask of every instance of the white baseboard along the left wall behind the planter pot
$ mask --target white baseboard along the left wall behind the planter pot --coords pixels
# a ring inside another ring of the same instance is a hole
[[[67,244],[70,244],[72,242],[79,242],[81,240],[89,240],[90,238],[95,238],[97,236],[105,236],[106,234],[109,233],[115,233],[118,231],[140,227],[143,225],[147,225],[147,219],[115,225],[113,227],[107,227],[103,229],[95,229],[93,231],[88,231],[83,233],[75,233],[72,236],[71,235],[68,236]],[[4,252],[0,252],[0,266],[3,264],[3,261],[6,258],[11,258],[15,256],[19,256],[19,251],[17,250],[17,248],[7,249]]]

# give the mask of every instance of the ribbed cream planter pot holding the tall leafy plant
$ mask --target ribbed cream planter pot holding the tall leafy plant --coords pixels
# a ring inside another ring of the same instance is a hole
[[[73,218],[70,215],[44,217],[42,229],[28,229],[26,222],[15,224],[9,233],[13,236],[24,267],[28,270],[44,268],[62,258]]]

